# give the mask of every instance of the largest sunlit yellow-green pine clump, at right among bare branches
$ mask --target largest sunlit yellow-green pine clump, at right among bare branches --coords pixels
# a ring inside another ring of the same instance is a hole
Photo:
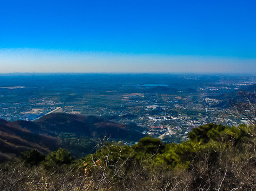
[[[207,124],[194,128],[188,134],[189,141],[180,144],[167,144],[164,151],[157,155],[155,163],[166,168],[189,168],[191,162],[200,162],[207,153],[211,166],[218,164],[221,153],[235,150],[242,153],[242,145],[249,138],[248,127],[227,127]]]

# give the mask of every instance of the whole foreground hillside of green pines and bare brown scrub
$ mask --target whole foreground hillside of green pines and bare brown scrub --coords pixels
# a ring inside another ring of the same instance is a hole
[[[2,190],[255,190],[255,126],[207,124],[189,141],[144,137],[133,146],[103,138],[94,154],[35,150],[2,164]]]

